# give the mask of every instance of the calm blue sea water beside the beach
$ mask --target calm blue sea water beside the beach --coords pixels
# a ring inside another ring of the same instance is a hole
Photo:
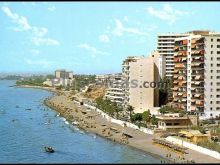
[[[158,158],[65,123],[42,104],[52,93],[8,87],[14,83],[0,81],[0,163],[160,163]],[[45,124],[49,120],[52,124]],[[43,145],[53,146],[56,152],[44,152]]]

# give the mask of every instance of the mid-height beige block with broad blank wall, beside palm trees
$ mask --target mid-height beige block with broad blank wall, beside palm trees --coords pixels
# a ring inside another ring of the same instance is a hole
[[[159,53],[153,52],[149,56],[130,56],[123,61],[122,74],[124,82],[129,82],[123,86],[125,93],[125,108],[128,105],[134,107],[134,113],[142,113],[148,109],[155,109],[159,105],[159,89],[154,88],[154,83],[159,82],[160,74],[158,70]],[[135,81],[135,84],[132,83]],[[144,82],[148,88],[144,87]],[[150,87],[150,83],[153,84]]]

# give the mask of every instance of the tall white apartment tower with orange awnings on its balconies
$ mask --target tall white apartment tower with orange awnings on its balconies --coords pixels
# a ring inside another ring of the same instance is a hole
[[[173,103],[206,118],[220,116],[220,33],[175,39]]]

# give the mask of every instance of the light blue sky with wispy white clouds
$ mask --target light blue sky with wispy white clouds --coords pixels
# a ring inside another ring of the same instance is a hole
[[[0,73],[121,72],[160,33],[220,32],[220,2],[0,2]]]

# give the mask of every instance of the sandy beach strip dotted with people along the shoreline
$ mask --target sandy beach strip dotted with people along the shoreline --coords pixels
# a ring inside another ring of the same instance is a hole
[[[162,159],[162,163],[176,162],[187,163],[194,160],[196,163],[219,163],[219,160],[204,155],[193,150],[187,149],[187,154],[174,152],[173,150],[153,143],[153,138],[157,135],[145,134],[139,130],[108,122],[105,118],[98,114],[95,110],[87,109],[83,105],[79,105],[69,99],[68,93],[56,95],[45,100],[45,104],[60,113],[70,123],[78,125],[88,132],[95,133],[109,140],[126,144],[138,150],[142,150],[147,154],[158,156]],[[132,138],[123,138],[122,134],[132,135]]]

